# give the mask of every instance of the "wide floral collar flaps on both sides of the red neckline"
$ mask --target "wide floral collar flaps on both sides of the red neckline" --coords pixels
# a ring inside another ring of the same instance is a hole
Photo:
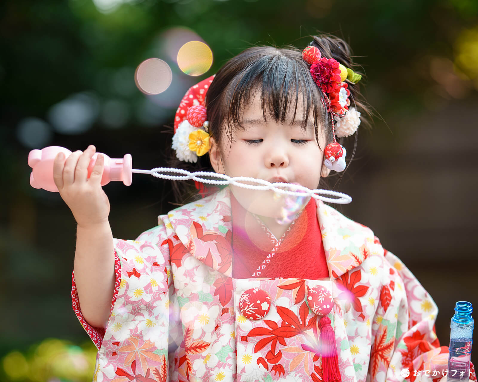
[[[317,219],[322,232],[330,278],[337,278],[359,266],[369,255],[373,232],[348,219],[322,201],[315,200]],[[180,264],[181,256],[190,253],[215,271],[232,275],[232,223],[228,187],[197,202],[185,204],[158,217],[169,237],[171,261]],[[181,248],[177,247],[180,241]],[[171,249],[174,251],[171,251]],[[178,259],[176,259],[178,257]]]

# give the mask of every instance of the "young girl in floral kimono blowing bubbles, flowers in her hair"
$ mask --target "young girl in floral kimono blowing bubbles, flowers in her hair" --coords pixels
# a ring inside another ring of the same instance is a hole
[[[330,36],[245,50],[186,93],[176,158],[317,188],[345,168],[336,136],[367,112],[352,66]],[[280,224],[272,191],[197,184],[209,195],[113,239],[101,156],[87,178],[94,152],[59,154],[54,179],[78,223],[72,299],[98,347],[95,381],[444,378],[436,305],[369,228],[314,198]]]

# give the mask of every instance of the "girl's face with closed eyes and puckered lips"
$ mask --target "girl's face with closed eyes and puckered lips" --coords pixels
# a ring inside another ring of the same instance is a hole
[[[246,129],[236,128],[232,140],[226,138],[221,142],[222,154],[211,138],[209,155],[214,170],[231,177],[253,177],[271,183],[299,183],[312,190],[317,188],[320,177],[329,172],[323,166],[323,149],[327,142],[322,129],[319,127],[319,147],[311,118],[306,130],[301,126],[304,117],[301,97],[294,120],[291,111],[283,125],[271,117],[265,122],[259,97],[260,92],[256,92],[250,106],[244,109],[242,124]],[[274,199],[273,191],[230,187],[234,197],[248,211],[270,218],[280,217],[282,201]]]

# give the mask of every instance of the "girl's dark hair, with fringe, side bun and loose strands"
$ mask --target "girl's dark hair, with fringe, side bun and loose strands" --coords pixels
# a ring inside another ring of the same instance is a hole
[[[310,45],[319,48],[322,57],[334,58],[340,64],[356,71],[356,65],[351,59],[351,49],[346,42],[329,35],[312,36],[312,38]],[[359,85],[349,83],[348,89],[351,105],[370,117],[369,107],[359,94]],[[206,110],[209,134],[218,142],[219,148],[225,142],[224,134],[231,139],[233,129],[241,128],[241,112],[250,104],[255,92],[258,91],[261,92],[261,106],[265,120],[270,117],[276,123],[284,123],[290,111],[293,111],[295,117],[299,97],[302,97],[304,108],[302,127],[305,128],[308,120],[312,118],[317,143],[319,143],[318,128],[320,126],[326,131],[327,143],[332,141],[330,115],[322,106],[322,91],[310,74],[310,65],[302,58],[302,50],[293,46],[285,48],[255,46],[244,50],[224,64],[207,90]],[[363,119],[362,124],[364,124]],[[208,155],[198,157],[196,163],[185,163],[179,161],[175,157],[174,150],[171,150],[170,158],[172,160],[169,161],[169,165],[172,167],[190,171],[212,169]],[[184,182],[173,183],[173,191],[178,203],[185,203],[191,197],[194,199],[197,192],[193,190]]]

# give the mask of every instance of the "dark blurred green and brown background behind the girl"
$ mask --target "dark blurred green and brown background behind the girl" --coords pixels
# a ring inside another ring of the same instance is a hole
[[[57,193],[30,186],[28,152],[95,144],[131,153],[137,169],[164,166],[162,131],[188,87],[251,44],[303,48],[317,30],[350,43],[376,114],[332,179],[354,199],[338,209],[417,276],[440,310],[442,344],[455,302],[478,303],[476,0],[6,0],[0,14],[0,380],[87,381],[94,365],[71,308],[75,221]],[[174,62],[190,40],[214,54],[200,77]],[[134,81],[151,57],[173,71],[158,96]],[[118,238],[174,208],[170,183],[147,175],[105,191]]]

